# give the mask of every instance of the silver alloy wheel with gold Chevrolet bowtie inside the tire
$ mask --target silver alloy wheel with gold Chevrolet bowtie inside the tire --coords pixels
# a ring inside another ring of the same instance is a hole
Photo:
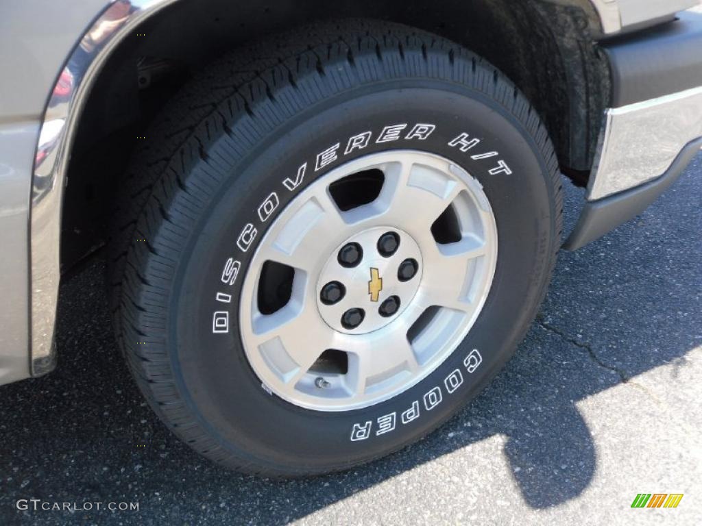
[[[342,210],[331,184],[366,170],[383,174],[378,195]],[[455,235],[439,243],[432,225],[449,207]],[[399,241],[392,253],[378,246],[388,233]],[[408,259],[416,270],[404,281],[398,271]],[[463,168],[416,150],[363,156],[300,192],[260,241],[241,292],[246,357],[264,389],[300,407],[347,411],[388,400],[429,375],[468,334],[496,261],[494,214]],[[292,283],[285,304],[262,313],[259,289],[270,262],[291,269]],[[323,297],[333,282],[342,287]],[[397,309],[393,300],[381,315],[390,297],[399,299]],[[351,309],[363,316],[343,323]],[[325,365],[329,356],[336,369]]]

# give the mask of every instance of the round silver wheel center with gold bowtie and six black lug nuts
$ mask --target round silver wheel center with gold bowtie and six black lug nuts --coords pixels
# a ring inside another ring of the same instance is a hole
[[[409,234],[393,227],[367,229],[329,255],[317,281],[317,308],[334,330],[366,334],[401,316],[421,277],[421,252]]]

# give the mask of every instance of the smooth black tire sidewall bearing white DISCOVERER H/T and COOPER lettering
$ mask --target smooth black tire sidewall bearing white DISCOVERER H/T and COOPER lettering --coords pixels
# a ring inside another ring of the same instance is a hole
[[[265,110],[257,112],[261,119]],[[377,142],[386,127],[402,124],[397,140]],[[425,139],[406,139],[417,124],[435,128]],[[367,146],[346,154],[350,138],[367,132]],[[461,134],[479,143],[461,151],[450,144]],[[318,166],[318,156],[335,144],[336,159]],[[208,155],[231,159],[231,148],[222,135]],[[347,412],[297,407],[267,392],[246,359],[238,330],[241,285],[267,228],[300,192],[347,161],[392,149],[443,156],[482,184],[498,228],[489,297],[456,351],[404,393]],[[483,155],[491,152],[495,155]],[[499,161],[509,173],[497,170]],[[301,184],[286,187],[284,181],[296,182],[305,163]],[[550,173],[524,125],[475,90],[438,80],[407,80],[341,93],[272,128],[228,168],[173,272],[166,348],[178,391],[192,414],[220,447],[239,457],[246,452],[257,463],[283,464],[291,471],[328,471],[379,457],[423,436],[474,396],[511,356],[543,297],[557,236]],[[194,172],[207,169],[200,163]],[[265,203],[272,195],[277,205],[269,214]],[[256,231],[249,245],[238,243],[245,229]],[[231,262],[240,263],[233,284],[232,273],[225,272],[227,262],[230,271]],[[232,301],[218,301],[218,293]],[[216,313],[227,313],[227,332],[213,333]],[[457,375],[461,382],[456,386]],[[390,420],[393,426],[387,430]]]

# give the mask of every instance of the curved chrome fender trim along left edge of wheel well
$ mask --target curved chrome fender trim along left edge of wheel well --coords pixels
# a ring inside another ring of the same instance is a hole
[[[116,0],[74,48],[55,83],[39,134],[30,203],[32,375],[53,368],[63,188],[79,116],[112,50],[143,20],[176,0]]]

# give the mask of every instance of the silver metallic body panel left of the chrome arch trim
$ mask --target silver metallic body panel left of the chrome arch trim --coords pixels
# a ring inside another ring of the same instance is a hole
[[[106,0],[2,1],[0,11],[0,384],[29,365],[29,194],[48,95]]]

